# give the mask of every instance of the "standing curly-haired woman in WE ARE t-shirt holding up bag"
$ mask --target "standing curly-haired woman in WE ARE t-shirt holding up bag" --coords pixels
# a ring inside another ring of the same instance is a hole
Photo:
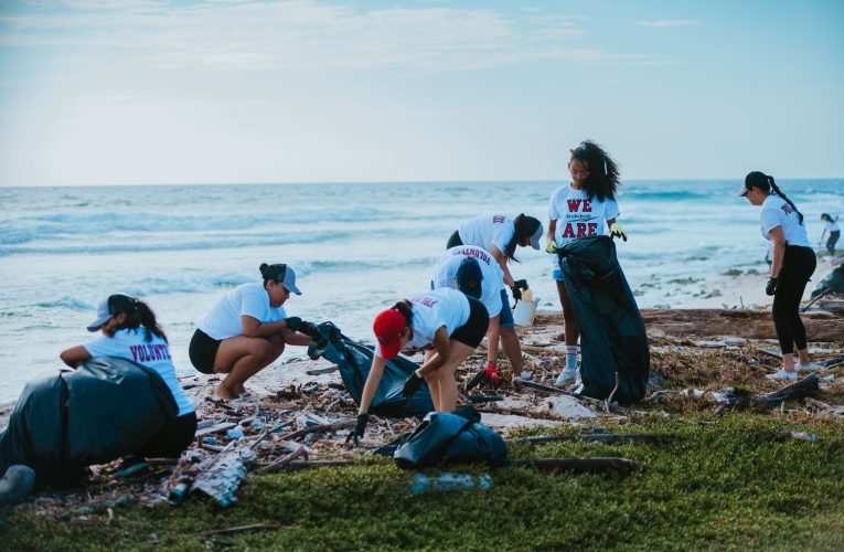
[[[617,222],[621,214],[616,202],[616,190],[619,187],[618,164],[609,153],[590,140],[569,151],[571,157],[568,160],[568,171],[571,182],[557,188],[551,194],[548,245],[545,251],[556,254],[558,248],[573,240],[606,235],[605,222],[612,235],[627,241],[627,233]],[[566,342],[566,365],[555,382],[560,386],[578,379],[577,340],[580,332],[558,263],[559,259],[555,255],[552,261],[552,274],[563,306]]]

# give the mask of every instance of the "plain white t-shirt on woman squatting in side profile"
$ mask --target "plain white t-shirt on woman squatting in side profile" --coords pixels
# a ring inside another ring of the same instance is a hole
[[[270,307],[264,284],[242,284],[224,295],[211,307],[199,328],[212,339],[243,336],[242,316],[250,316],[259,322],[275,322],[287,318],[284,307]]]

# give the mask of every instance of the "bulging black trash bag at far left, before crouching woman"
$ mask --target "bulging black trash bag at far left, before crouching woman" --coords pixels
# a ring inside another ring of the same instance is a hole
[[[94,358],[26,384],[0,434],[0,473],[23,464],[39,485],[77,484],[86,466],[137,454],[178,412],[154,370]]]

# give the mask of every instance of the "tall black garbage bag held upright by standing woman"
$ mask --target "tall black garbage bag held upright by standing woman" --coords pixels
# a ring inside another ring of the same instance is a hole
[[[558,251],[563,280],[580,330],[583,386],[576,392],[619,403],[644,396],[650,371],[648,336],[609,236],[574,240]]]

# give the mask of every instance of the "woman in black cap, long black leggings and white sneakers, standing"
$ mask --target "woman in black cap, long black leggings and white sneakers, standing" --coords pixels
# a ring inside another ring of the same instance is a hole
[[[759,222],[762,237],[773,245],[770,278],[765,293],[773,296],[773,326],[782,351],[782,368],[766,378],[797,380],[794,346],[800,364],[798,370],[812,370],[806,336],[800,319],[800,300],[814,273],[818,261],[809,243],[803,215],[794,203],[777,187],[773,177],[754,171],[745,178],[741,197],[754,205],[761,205]]]

